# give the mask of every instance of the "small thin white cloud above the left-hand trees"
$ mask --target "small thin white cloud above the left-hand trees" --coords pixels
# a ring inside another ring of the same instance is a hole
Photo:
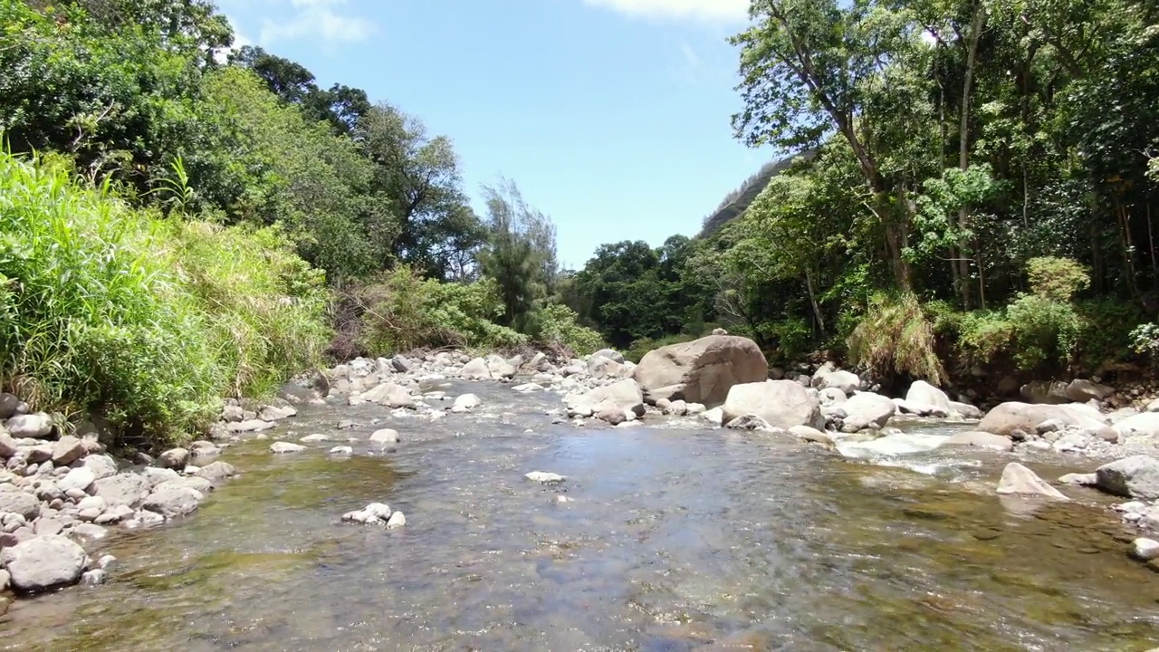
[[[365,41],[377,31],[369,19],[347,14],[347,0],[285,0],[274,2],[272,13],[283,17],[265,19],[258,41],[270,44],[278,41],[316,38],[326,45]]]

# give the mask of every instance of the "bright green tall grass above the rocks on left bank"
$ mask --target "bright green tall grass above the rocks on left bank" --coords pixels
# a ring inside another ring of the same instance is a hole
[[[196,432],[326,341],[321,280],[280,242],[137,212],[0,152],[0,386],[158,443]]]

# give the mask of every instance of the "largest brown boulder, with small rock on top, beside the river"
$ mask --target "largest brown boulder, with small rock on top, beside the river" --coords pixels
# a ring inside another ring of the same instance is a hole
[[[748,338],[709,335],[649,352],[633,377],[650,404],[666,398],[713,407],[734,385],[764,382],[768,363]]]

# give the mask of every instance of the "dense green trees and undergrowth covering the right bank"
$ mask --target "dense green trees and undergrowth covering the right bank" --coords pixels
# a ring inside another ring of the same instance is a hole
[[[781,361],[942,382],[1159,349],[1159,6],[756,0],[751,19],[737,137],[810,155],[678,255],[600,249],[569,302],[610,341],[720,323]]]

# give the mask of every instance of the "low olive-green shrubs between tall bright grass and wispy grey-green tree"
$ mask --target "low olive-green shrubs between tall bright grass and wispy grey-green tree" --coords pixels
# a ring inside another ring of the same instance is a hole
[[[509,348],[527,338],[494,323],[503,313],[493,280],[444,283],[400,266],[352,292],[362,306],[362,350],[372,356],[421,348]]]

